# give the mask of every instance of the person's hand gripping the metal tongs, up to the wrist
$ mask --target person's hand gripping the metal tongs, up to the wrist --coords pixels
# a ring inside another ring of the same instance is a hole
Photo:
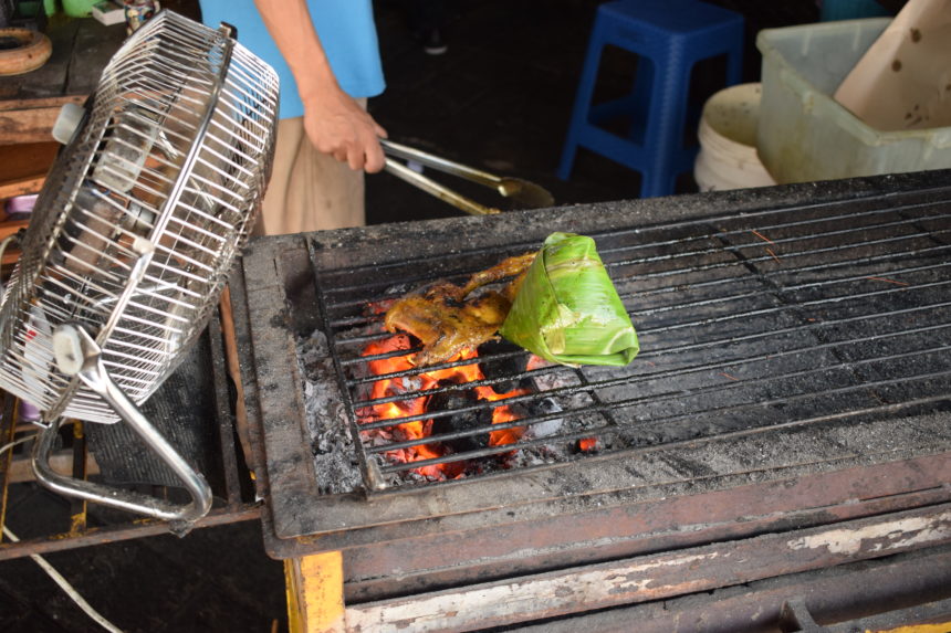
[[[317,151],[346,162],[351,169],[375,173],[386,163],[379,145],[386,130],[339,88],[304,99],[304,130]]]

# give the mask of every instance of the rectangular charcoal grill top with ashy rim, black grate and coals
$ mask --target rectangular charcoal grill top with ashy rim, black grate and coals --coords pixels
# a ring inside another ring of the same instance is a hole
[[[254,241],[236,325],[275,536],[333,548],[357,528],[474,529],[948,451],[951,204],[922,178]],[[504,342],[405,361],[390,300],[553,231],[597,242],[640,337],[628,367]]]

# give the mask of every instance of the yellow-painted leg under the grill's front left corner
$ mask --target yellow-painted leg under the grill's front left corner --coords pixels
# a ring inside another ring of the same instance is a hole
[[[345,631],[343,562],[339,551],[284,560],[291,633]]]

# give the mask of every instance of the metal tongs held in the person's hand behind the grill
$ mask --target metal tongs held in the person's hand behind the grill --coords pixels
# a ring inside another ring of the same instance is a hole
[[[379,143],[387,157],[391,156],[403,158],[407,161],[417,162],[425,167],[431,167],[437,171],[451,173],[471,182],[489,187],[490,189],[498,191],[501,196],[511,198],[512,200],[524,204],[526,209],[552,207],[555,203],[555,199],[552,198],[552,194],[548,193],[546,189],[535,184],[534,182],[529,182],[527,180],[522,180],[520,178],[488,173],[480,169],[460,165],[412,147],[393,143],[391,140],[380,139]],[[476,202],[471,198],[457,193],[439,182],[427,178],[422,173],[414,171],[401,162],[387,160],[386,170],[397,178],[400,178],[410,184],[422,189],[427,193],[431,193],[432,196],[436,196],[437,198],[445,200],[453,207],[457,207],[472,215],[488,215],[501,212],[499,209],[485,207],[484,204]]]

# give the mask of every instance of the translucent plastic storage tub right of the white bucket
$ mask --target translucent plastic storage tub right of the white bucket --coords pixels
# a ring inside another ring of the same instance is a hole
[[[951,167],[951,127],[880,131],[832,95],[889,18],[760,31],[760,159],[777,182]]]

